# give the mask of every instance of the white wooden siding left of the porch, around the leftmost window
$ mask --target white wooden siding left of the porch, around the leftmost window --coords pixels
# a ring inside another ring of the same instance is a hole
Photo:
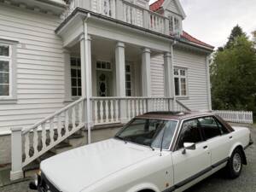
[[[0,132],[27,127],[63,107],[64,54],[55,28],[61,20],[0,3],[0,38],[17,46],[17,102],[0,104]]]

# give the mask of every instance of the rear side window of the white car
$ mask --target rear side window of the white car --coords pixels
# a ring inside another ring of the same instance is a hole
[[[212,137],[218,137],[229,131],[221,125],[217,119],[214,117],[204,117],[199,119],[201,130],[204,133],[204,137],[206,139],[210,139]]]

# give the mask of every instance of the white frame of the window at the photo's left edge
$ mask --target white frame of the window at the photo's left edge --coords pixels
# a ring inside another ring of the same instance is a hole
[[[9,56],[0,55],[0,61],[9,61],[9,96],[0,96],[0,104],[17,102],[16,49],[18,43],[18,41],[0,38],[0,45],[9,46]]]

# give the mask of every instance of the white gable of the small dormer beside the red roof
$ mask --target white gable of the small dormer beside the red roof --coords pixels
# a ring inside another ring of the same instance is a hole
[[[186,17],[183,7],[182,7],[181,3],[179,2],[179,0],[169,0],[169,1],[166,0],[163,3],[162,7],[163,7],[163,9],[169,10],[172,13],[181,15],[183,19],[185,19],[185,17]]]

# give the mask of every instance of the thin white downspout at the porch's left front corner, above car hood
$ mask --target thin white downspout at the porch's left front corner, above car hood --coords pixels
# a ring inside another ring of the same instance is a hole
[[[89,82],[89,60],[88,60],[88,27],[87,20],[90,18],[90,13],[84,19],[84,48],[85,48],[85,70],[86,70],[86,119],[87,119],[87,141],[91,143],[90,138],[90,82]],[[86,54],[87,52],[87,54]]]

